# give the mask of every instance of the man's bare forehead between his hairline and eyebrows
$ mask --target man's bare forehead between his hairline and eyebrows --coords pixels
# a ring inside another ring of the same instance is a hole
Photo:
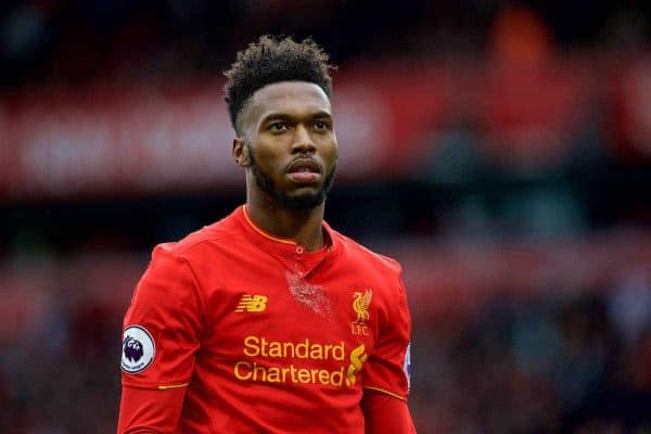
[[[281,81],[258,89],[250,103],[251,120],[257,123],[267,115],[309,116],[331,112],[330,100],[319,86],[305,81]]]

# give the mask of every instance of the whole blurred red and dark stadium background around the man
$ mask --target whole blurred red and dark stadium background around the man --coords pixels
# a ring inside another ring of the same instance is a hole
[[[0,4],[0,432],[115,432],[155,243],[244,201],[221,71],[340,65],[327,218],[404,264],[420,433],[651,432],[651,3]]]

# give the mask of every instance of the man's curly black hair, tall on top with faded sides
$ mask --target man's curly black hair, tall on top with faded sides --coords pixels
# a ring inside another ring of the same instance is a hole
[[[332,79],[329,55],[311,39],[261,36],[238,52],[231,68],[224,73],[224,94],[231,124],[241,133],[240,114],[256,90],[279,81],[307,81],[323,89],[330,98]]]

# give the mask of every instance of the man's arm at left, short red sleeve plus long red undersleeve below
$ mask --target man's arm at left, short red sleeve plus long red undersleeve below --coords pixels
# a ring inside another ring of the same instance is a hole
[[[152,430],[174,429],[194,370],[202,312],[199,288],[187,261],[157,247],[125,315],[120,432],[150,423],[154,423]]]

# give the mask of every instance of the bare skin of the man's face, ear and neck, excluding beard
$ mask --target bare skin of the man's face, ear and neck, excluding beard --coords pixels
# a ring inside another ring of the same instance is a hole
[[[292,209],[259,188],[250,153],[277,191],[288,197],[316,195],[336,162],[336,135],[330,100],[323,90],[305,81],[282,81],[257,90],[238,122],[233,157],[246,169],[246,209],[257,226],[307,251],[323,246],[324,203]],[[306,163],[307,162],[307,163]],[[309,165],[314,175],[293,171]]]

